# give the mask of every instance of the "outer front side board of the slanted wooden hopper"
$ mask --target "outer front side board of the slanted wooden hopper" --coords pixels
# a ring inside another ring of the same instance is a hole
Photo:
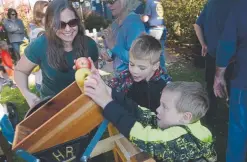
[[[101,111],[98,105],[82,94],[13,146],[13,150],[22,148],[35,153],[83,136],[103,121]]]

